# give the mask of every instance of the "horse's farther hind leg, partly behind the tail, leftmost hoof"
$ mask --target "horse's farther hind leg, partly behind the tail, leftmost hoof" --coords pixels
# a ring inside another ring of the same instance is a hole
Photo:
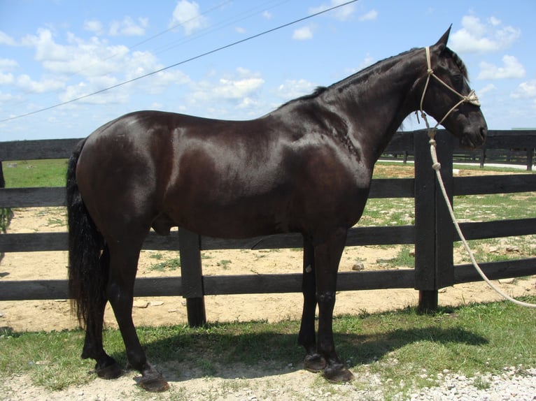
[[[110,254],[108,247],[105,247],[100,258],[102,275],[108,276],[110,266]],[[102,379],[115,379],[122,374],[121,368],[115,360],[108,356],[102,345],[102,324],[104,321],[104,308],[106,307],[106,281],[102,282],[101,296],[94,299],[95,313],[89,314],[89,319],[85,322],[85,341],[82,351],[82,358],[92,358],[97,361],[95,372]]]

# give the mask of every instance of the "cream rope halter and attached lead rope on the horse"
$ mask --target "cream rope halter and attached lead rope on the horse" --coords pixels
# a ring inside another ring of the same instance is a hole
[[[486,275],[484,274],[484,272],[480,268],[479,264],[477,263],[477,260],[474,258],[474,255],[473,255],[473,253],[471,251],[471,248],[469,247],[469,244],[467,243],[467,240],[465,240],[465,236],[463,235],[463,233],[462,233],[462,231],[460,229],[460,224],[458,224],[458,219],[456,219],[456,215],[454,214],[454,210],[452,208],[451,201],[449,200],[449,196],[446,194],[445,184],[443,182],[443,178],[441,176],[441,171],[440,171],[441,170],[441,163],[439,163],[439,161],[437,161],[437,153],[436,153],[436,150],[435,150],[435,148],[437,147],[437,143],[435,142],[435,133],[436,133],[437,126],[439,126],[439,124],[444,122],[446,117],[448,117],[451,114],[451,112],[455,108],[458,107],[458,105],[460,105],[461,103],[472,103],[474,105],[480,105],[480,103],[479,103],[477,95],[474,93],[474,91],[471,91],[470,94],[467,95],[467,96],[463,96],[462,94],[459,94],[454,89],[449,87],[449,85],[446,85],[445,82],[440,80],[439,77],[437,77],[437,75],[434,74],[434,71],[432,70],[432,68],[430,66],[431,64],[430,64],[430,49],[429,48],[426,48],[426,62],[428,63],[428,77],[426,79],[426,84],[425,84],[425,87],[424,87],[423,96],[421,97],[421,117],[423,117],[423,120],[424,120],[424,122],[426,124],[426,129],[428,131],[428,137],[430,138],[428,143],[430,143],[430,156],[432,156],[432,168],[435,170],[435,175],[437,176],[437,182],[439,183],[439,187],[441,188],[441,192],[443,194],[443,198],[445,200],[446,207],[448,207],[448,209],[449,209],[449,214],[451,215],[452,222],[453,222],[454,226],[456,227],[456,232],[458,233],[458,236],[460,237],[460,240],[462,240],[463,247],[465,247],[465,250],[467,251],[467,254],[469,255],[469,257],[471,259],[472,265],[477,270],[477,272],[479,273],[480,277],[482,277],[482,279],[488,284],[488,286],[491,287],[491,289],[493,289],[496,293],[498,293],[500,296],[502,296],[502,298],[505,298],[506,300],[509,300],[510,302],[513,302],[516,305],[523,306],[523,307],[536,308],[535,304],[531,304],[531,303],[528,303],[528,302],[523,302],[523,301],[520,301],[520,300],[516,300],[515,298],[512,298],[511,296],[509,296],[507,293],[502,292],[497,286],[495,286],[495,284],[493,284],[490,281],[490,279],[488,279],[488,277],[486,277]],[[426,118],[426,113],[423,111],[423,101],[424,101],[424,96],[425,96],[425,93],[426,93],[426,89],[428,89],[428,82],[430,82],[430,76],[433,76],[436,80],[441,82],[445,87],[451,89],[451,91],[453,91],[456,94],[458,94],[458,96],[460,96],[460,98],[462,99],[461,101],[456,103],[456,105],[454,105],[454,107],[451,108],[451,110],[449,110],[449,112],[447,112],[446,115],[441,119],[441,121],[438,122],[437,124],[435,124],[435,126],[433,128],[430,128],[430,124],[428,124],[428,119]]]

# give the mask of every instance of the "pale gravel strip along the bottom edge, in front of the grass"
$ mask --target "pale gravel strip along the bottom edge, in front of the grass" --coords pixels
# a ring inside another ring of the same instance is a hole
[[[393,395],[393,382],[377,374],[365,374],[353,384],[329,385],[309,372],[293,371],[257,379],[199,378],[171,383],[167,393],[144,393],[134,384],[135,372],[113,381],[94,380],[63,391],[45,391],[31,386],[24,377],[13,377],[3,386],[0,400],[5,401],[115,401],[115,400],[199,400],[199,401],[536,401],[536,368],[505,367],[500,374],[465,377],[449,371],[430,379],[437,386],[419,388]],[[411,379],[411,378],[409,378]],[[319,384],[320,383],[320,384]]]

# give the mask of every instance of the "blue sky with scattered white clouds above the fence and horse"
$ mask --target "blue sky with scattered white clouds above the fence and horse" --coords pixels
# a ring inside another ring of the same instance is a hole
[[[127,112],[250,119],[432,45],[467,64],[490,129],[536,128],[536,2],[360,0],[58,108],[338,0],[0,0],[0,140],[81,138]],[[9,119],[6,121],[6,119]],[[414,117],[404,124],[418,129]]]

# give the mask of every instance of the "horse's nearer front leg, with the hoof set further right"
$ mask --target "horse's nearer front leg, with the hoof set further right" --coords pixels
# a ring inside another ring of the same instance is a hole
[[[324,377],[330,381],[350,381],[353,374],[337,356],[333,341],[333,309],[337,271],[346,243],[346,230],[332,233],[314,248],[316,263],[316,300],[318,302],[318,353],[325,359]]]

